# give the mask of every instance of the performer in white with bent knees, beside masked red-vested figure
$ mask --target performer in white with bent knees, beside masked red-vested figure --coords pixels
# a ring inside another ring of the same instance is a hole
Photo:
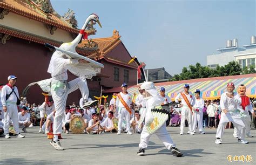
[[[240,111],[238,110],[238,106],[241,104],[241,98],[238,93],[234,93],[234,84],[227,84],[227,92],[224,92],[220,96],[220,109],[221,116],[219,126],[216,132],[216,144],[222,143],[222,137],[224,134],[224,127],[227,122],[232,122],[235,128],[238,129],[239,132],[242,132],[245,128],[244,122],[242,122]],[[244,132],[239,134],[238,138],[239,143],[247,144],[248,142],[244,139]]]

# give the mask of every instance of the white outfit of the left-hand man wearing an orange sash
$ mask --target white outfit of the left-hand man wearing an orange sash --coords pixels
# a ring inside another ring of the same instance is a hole
[[[132,103],[132,97],[130,93],[124,94],[123,92],[120,92],[121,97],[126,102],[126,104],[130,107]],[[118,130],[122,130],[122,123],[125,118],[126,121],[126,131],[130,131],[130,113],[126,110],[122,102],[117,97],[117,104],[118,104]]]

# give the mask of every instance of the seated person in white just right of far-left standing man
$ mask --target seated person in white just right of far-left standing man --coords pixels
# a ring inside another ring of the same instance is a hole
[[[21,108],[21,112],[18,113],[19,126],[23,127],[23,132],[27,132],[26,128],[32,127],[32,123],[30,122],[30,115],[28,113],[28,109],[26,107]]]

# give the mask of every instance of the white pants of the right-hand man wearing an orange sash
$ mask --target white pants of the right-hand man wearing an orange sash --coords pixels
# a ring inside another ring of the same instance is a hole
[[[192,112],[187,106],[181,107],[180,133],[183,133],[185,120],[188,122],[188,131],[192,132]]]

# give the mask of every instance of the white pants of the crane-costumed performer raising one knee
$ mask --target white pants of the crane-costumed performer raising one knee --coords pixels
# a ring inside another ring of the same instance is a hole
[[[53,79],[51,85],[58,83],[60,81]],[[62,120],[64,118],[65,107],[66,107],[66,99],[68,98],[68,94],[76,91],[78,88],[81,91],[81,94],[84,98],[86,95],[89,95],[89,89],[87,87],[87,82],[85,78],[79,77],[67,83],[68,85],[65,87],[58,87],[55,90],[53,87],[51,88],[52,99],[55,104],[55,118],[53,121],[53,134],[60,134],[62,132]]]

